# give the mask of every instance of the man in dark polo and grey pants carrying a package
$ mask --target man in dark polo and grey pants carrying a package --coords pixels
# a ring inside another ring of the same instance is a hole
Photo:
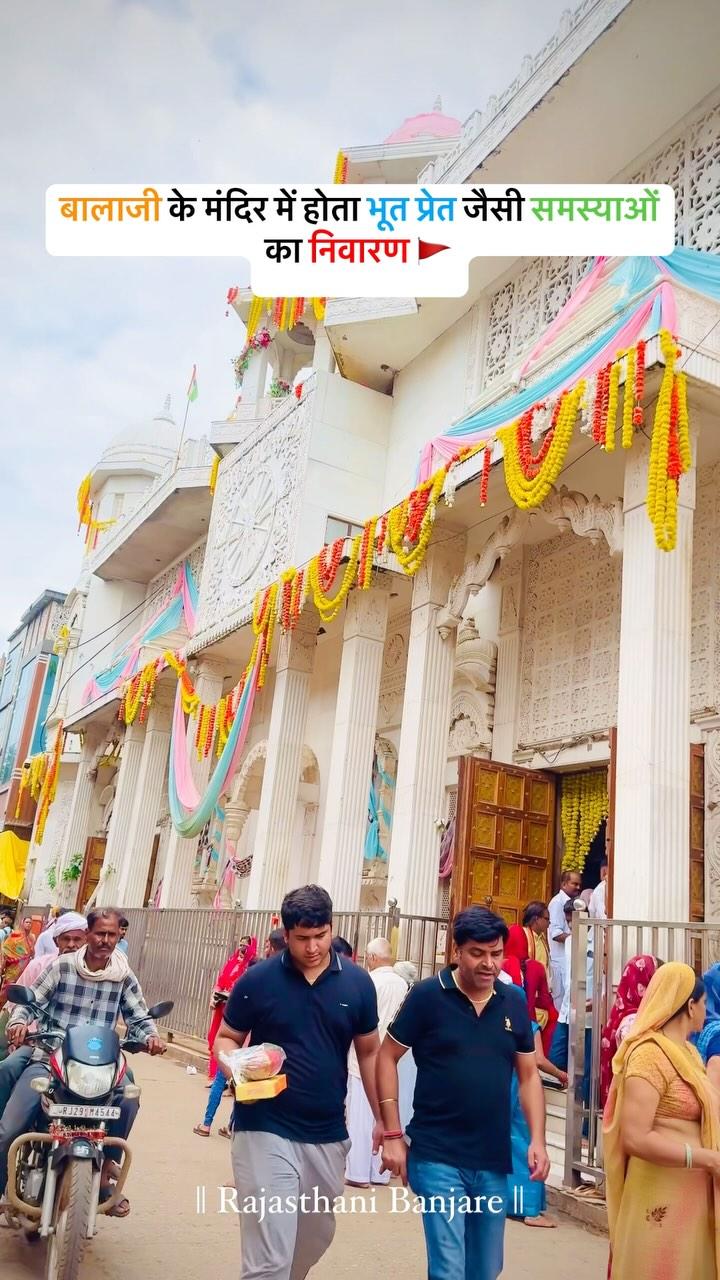
[[[247,1032],[251,1044],[266,1041],[287,1055],[287,1089],[234,1107],[241,1280],[304,1280],[331,1244],[350,1149],[345,1096],[351,1044],[375,1116],[375,1149],[382,1132],[374,984],[332,948],[332,902],[324,888],[307,884],[288,893],[282,922],[287,950],[236,983],[215,1041],[218,1061]]]

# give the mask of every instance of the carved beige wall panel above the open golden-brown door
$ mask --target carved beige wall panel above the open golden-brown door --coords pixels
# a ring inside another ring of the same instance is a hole
[[[607,730],[618,707],[621,558],[571,532],[525,556],[518,741]]]

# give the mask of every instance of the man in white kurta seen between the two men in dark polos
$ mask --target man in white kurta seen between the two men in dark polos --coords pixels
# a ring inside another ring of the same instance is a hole
[[[378,993],[378,1034],[383,1039],[389,1024],[407,995],[407,983],[392,968],[392,948],[387,938],[368,943],[366,964]],[[373,1112],[360,1079],[355,1047],[347,1056],[347,1133],[352,1143],[345,1166],[345,1180],[351,1187],[389,1181],[380,1174],[380,1156],[373,1156]]]

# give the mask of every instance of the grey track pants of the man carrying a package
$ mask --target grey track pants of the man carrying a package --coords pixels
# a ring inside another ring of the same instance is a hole
[[[234,1134],[241,1280],[305,1280],[332,1243],[333,1201],[342,1196],[348,1151],[350,1142],[313,1144],[274,1133]],[[297,1203],[302,1196],[305,1207]],[[255,1204],[249,1204],[251,1197]],[[279,1197],[281,1207],[270,1206],[270,1197]]]

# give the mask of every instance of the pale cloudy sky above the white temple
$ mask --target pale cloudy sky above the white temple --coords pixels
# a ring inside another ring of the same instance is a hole
[[[240,259],[54,259],[51,183],[328,182],[342,146],[406,116],[464,120],[516,76],[568,0],[23,0],[0,41],[0,648],[82,562],[76,492],[119,430],[197,365],[188,435],[227,417]]]

